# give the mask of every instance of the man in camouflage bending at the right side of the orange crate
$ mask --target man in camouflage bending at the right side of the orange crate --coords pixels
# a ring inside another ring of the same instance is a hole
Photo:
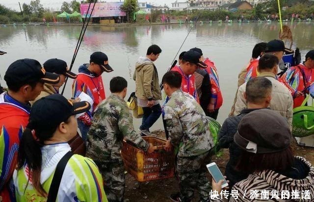
[[[164,107],[169,139],[165,149],[179,147],[176,171],[179,178],[180,193],[172,194],[174,202],[190,202],[194,189],[200,194],[201,202],[207,202],[210,195],[210,184],[206,177],[206,161],[210,160],[209,150],[213,139],[209,131],[205,112],[196,100],[180,90],[181,74],[167,72],[162,78],[165,93],[170,97]]]

